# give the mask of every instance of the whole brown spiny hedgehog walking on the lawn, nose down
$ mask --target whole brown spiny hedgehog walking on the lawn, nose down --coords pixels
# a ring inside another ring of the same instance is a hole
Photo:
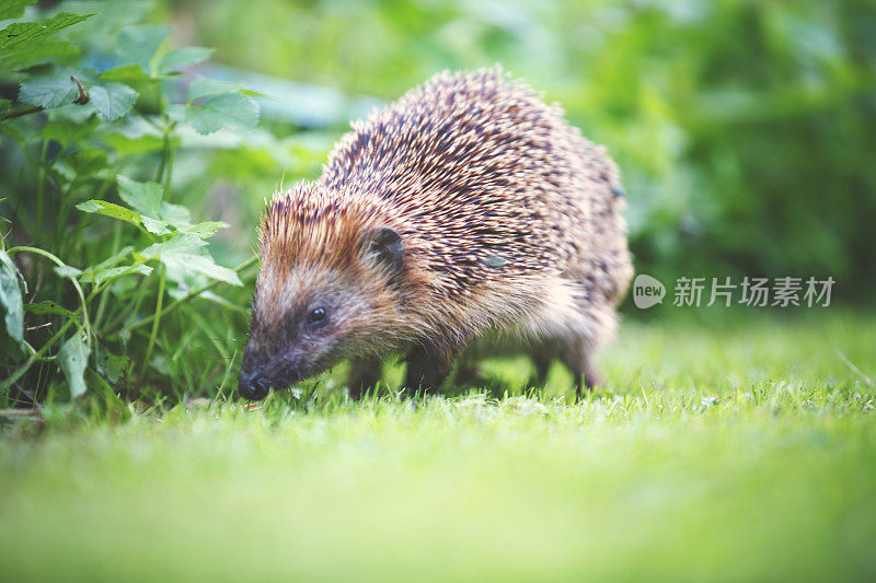
[[[391,355],[426,394],[495,347],[542,382],[558,359],[580,396],[633,273],[624,206],[618,167],[560,106],[498,67],[439,73],[266,201],[239,394],[349,360],[358,398]]]

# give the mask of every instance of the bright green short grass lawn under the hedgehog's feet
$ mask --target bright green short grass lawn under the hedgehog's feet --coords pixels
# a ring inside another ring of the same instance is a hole
[[[875,350],[740,313],[625,324],[577,405],[520,360],[499,399],[48,408],[0,433],[0,579],[873,580]]]

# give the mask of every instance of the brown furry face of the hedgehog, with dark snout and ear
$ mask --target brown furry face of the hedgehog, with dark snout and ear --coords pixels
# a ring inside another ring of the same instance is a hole
[[[367,230],[345,261],[263,263],[238,392],[264,398],[339,360],[374,351],[388,331],[404,250],[389,228]],[[263,254],[264,259],[264,254]]]

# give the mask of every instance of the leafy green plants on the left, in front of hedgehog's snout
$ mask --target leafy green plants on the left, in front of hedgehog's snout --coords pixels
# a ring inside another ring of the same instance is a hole
[[[76,3],[94,9],[82,13],[32,3],[0,0],[0,20],[20,21],[0,31],[0,151],[21,164],[16,184],[0,184],[15,193],[0,201],[11,214],[0,243],[0,398],[92,393],[110,404],[123,392],[227,386],[231,318],[243,308],[214,289],[240,287],[255,258],[237,268],[214,259],[208,240],[228,225],[172,202],[173,171],[181,131],[254,128],[253,93],[186,83],[182,71],[211,51],[169,49],[168,26],[101,14],[100,2]],[[221,307],[191,310],[197,298]]]

